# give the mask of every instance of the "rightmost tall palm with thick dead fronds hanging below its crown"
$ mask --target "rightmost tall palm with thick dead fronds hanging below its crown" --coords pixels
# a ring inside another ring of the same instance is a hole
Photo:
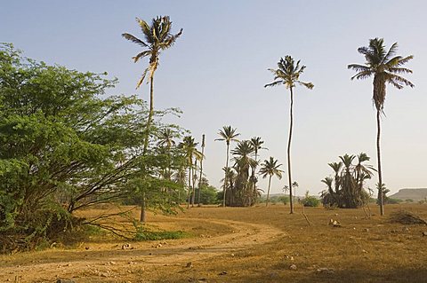
[[[381,114],[384,112],[384,101],[386,83],[391,83],[397,89],[402,89],[405,85],[414,87],[404,77],[398,74],[410,74],[412,70],[402,67],[414,56],[401,57],[396,55],[398,43],[393,43],[389,51],[386,51],[383,38],[374,38],[369,40],[368,47],[360,47],[359,53],[365,56],[367,62],[365,65],[350,64],[349,69],[358,72],[351,77],[351,80],[363,80],[374,76],[374,95],[373,102],[376,108],[376,157],[378,164],[378,200],[380,202],[380,214],[384,215],[383,203],[383,173],[381,170]]]

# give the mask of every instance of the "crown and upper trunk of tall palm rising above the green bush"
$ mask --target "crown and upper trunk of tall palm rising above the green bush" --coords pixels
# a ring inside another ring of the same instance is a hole
[[[152,20],[151,26],[145,21],[139,18],[136,18],[136,21],[140,25],[142,34],[145,37],[145,40],[141,40],[130,34],[122,34],[125,39],[130,40],[133,43],[140,45],[144,51],[141,51],[136,56],[133,57],[133,61],[136,63],[139,59],[144,57],[149,57],[149,67],[147,67],[142,73],[141,79],[136,84],[138,89],[141,86],[141,83],[144,81],[147,74],[149,74],[149,118],[147,121],[147,131],[144,139],[144,148],[143,153],[147,152],[147,146],[149,145],[149,128],[154,114],[154,104],[153,104],[153,90],[154,90],[154,73],[158,67],[158,57],[160,51],[164,51],[170,48],[176,39],[181,36],[182,28],[180,32],[176,35],[171,34],[172,21],[169,17],[157,17]]]

